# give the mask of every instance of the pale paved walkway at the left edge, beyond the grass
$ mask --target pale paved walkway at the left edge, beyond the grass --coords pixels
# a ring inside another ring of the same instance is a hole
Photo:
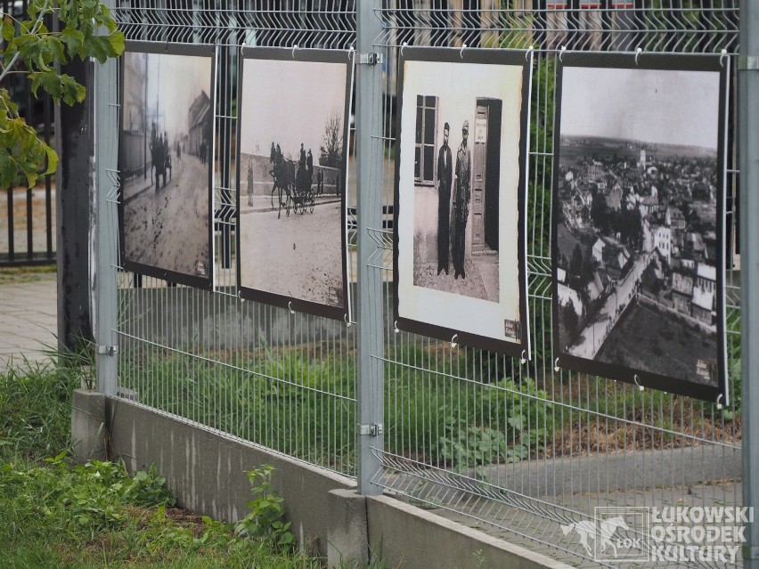
[[[58,290],[55,272],[0,270],[0,373],[25,361],[50,362],[56,349]]]

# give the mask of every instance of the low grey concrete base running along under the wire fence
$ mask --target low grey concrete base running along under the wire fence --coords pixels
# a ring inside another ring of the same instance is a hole
[[[72,431],[86,413],[72,414]],[[568,569],[484,533],[388,496],[365,498],[355,481],[139,403],[105,398],[113,458],[134,472],[151,465],[165,476],[177,505],[227,522],[245,516],[247,470],[274,467],[272,484],[301,548],[326,556],[331,567],[361,567],[370,552],[388,567],[459,569],[478,566]],[[477,556],[477,557],[476,557]],[[484,559],[485,561],[479,561]]]

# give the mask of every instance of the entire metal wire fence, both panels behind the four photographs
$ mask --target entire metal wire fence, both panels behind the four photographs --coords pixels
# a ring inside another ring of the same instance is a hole
[[[233,173],[240,45],[347,49],[355,45],[355,11],[362,9],[356,4],[140,0],[122,2],[116,10],[129,39],[219,47],[213,294],[114,268],[118,393],[348,476],[357,472],[355,327],[238,299]],[[604,564],[593,562],[590,551],[561,526],[593,520],[596,506],[739,505],[736,239],[730,238],[725,279],[729,384],[735,395],[728,408],[555,370],[551,345],[556,54],[563,47],[620,53],[641,47],[647,53],[722,53],[735,59],[737,3],[388,0],[374,17],[382,29],[374,43],[385,71],[381,130],[372,133],[384,146],[384,159],[372,158],[381,162],[381,198],[370,204],[378,209],[392,205],[396,61],[403,45],[535,52],[527,220],[534,357],[520,362],[397,332],[390,293],[392,229],[368,228],[377,247],[367,258],[357,259],[349,240],[352,286],[359,266],[381,272],[385,283],[384,318],[372,322],[384,347],[362,355],[384,369],[385,435],[373,447],[382,468],[372,483],[583,566]],[[729,104],[732,236],[739,174],[735,89]],[[355,191],[351,180],[353,228]]]

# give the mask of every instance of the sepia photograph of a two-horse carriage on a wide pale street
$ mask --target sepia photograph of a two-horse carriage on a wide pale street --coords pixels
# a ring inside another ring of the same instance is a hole
[[[242,60],[241,296],[345,318],[346,52],[250,48]]]

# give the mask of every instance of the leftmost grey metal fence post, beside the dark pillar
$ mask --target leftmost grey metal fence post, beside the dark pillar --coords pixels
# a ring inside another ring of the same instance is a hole
[[[113,10],[112,0],[106,2]],[[118,180],[118,61],[94,64],[94,271],[93,308],[97,388],[116,394],[118,215],[115,188]]]

